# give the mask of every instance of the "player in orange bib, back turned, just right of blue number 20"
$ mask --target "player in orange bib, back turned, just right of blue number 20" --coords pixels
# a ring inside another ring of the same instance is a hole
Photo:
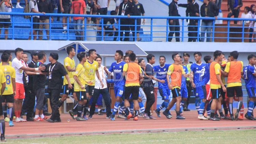
[[[125,81],[125,108],[126,108],[126,119],[130,119],[132,116],[130,112],[130,103],[129,103],[129,98],[130,95],[132,94],[132,100],[134,102],[134,111],[135,111],[135,116],[134,116],[134,121],[138,121],[138,114],[139,114],[139,103],[138,103],[138,97],[139,97],[139,87],[140,87],[140,82],[139,79],[142,79],[142,71],[140,66],[135,63],[136,59],[136,54],[131,53],[129,55],[130,62],[126,63],[123,68],[123,76],[126,77]]]

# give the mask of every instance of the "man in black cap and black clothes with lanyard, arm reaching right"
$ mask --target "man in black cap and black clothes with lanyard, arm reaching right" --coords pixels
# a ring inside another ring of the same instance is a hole
[[[59,59],[58,53],[52,52],[49,56],[49,64],[46,65],[46,71],[48,73],[48,93],[49,93],[49,100],[52,108],[52,116],[51,118],[47,119],[47,122],[55,123],[61,122],[60,120],[60,113],[57,107],[57,103],[60,98],[60,91],[63,84],[62,76],[66,76],[69,89],[72,88],[72,85],[69,82],[69,76],[65,67],[58,62]]]

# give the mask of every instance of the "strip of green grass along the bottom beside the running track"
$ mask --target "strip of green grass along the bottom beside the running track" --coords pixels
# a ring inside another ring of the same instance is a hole
[[[134,133],[134,134],[105,134],[62,136],[33,139],[7,139],[7,143],[14,144],[201,144],[201,143],[255,143],[256,129],[225,130],[225,131],[184,131],[161,133]]]

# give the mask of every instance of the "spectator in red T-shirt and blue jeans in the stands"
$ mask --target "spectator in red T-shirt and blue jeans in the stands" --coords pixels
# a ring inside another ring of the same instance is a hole
[[[74,0],[72,2],[71,11],[70,14],[86,14],[86,5],[84,0]],[[84,21],[84,17],[73,17],[73,22],[77,25],[74,25],[75,31],[75,39],[77,41],[82,41],[81,38],[81,30],[82,30],[82,24]],[[69,22],[71,22],[71,17],[69,17]]]

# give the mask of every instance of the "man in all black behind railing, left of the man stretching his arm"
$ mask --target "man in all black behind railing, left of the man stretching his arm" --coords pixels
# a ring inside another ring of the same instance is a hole
[[[180,16],[178,12],[178,0],[172,0],[169,4],[169,16]],[[180,23],[179,19],[169,19],[169,34],[168,42],[172,41],[172,37],[175,31],[176,42],[180,42]]]

